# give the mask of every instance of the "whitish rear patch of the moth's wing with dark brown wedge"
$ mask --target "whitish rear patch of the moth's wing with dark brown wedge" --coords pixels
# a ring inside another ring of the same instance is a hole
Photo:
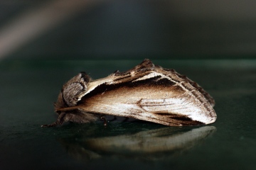
[[[210,105],[210,103],[207,103]],[[180,125],[200,125],[215,122],[215,112],[208,111],[202,103],[195,101],[191,94],[182,94],[174,98],[142,99],[139,106],[148,113]]]

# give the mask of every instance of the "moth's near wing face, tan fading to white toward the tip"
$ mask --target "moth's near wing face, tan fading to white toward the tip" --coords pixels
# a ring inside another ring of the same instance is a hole
[[[154,86],[152,83],[106,90],[84,98],[78,106],[72,108],[171,126],[200,125],[215,121],[213,109],[207,111],[200,101],[195,101],[192,94],[183,91],[180,86]]]

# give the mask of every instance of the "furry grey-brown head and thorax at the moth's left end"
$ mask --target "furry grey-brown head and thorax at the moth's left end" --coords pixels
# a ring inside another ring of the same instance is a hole
[[[63,89],[58,96],[58,101],[55,103],[55,109],[75,106],[85,94],[89,82],[90,77],[85,72],[80,72],[70,79],[64,84]]]

